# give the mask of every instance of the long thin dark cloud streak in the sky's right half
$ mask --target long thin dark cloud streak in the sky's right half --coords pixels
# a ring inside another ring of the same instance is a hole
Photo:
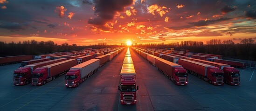
[[[188,24],[194,25],[194,26],[208,26],[210,24],[214,24],[217,22],[225,21],[225,20],[230,20],[231,18],[220,18],[216,20],[199,20],[197,22],[189,22]]]

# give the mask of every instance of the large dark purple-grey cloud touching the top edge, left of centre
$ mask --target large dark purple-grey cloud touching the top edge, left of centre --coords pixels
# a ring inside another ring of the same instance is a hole
[[[93,0],[97,18],[89,19],[88,24],[104,27],[113,20],[117,12],[124,12],[125,6],[130,6],[133,0]]]

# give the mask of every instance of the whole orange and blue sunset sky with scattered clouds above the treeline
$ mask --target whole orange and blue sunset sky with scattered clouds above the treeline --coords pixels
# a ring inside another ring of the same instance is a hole
[[[256,40],[256,0],[0,0],[0,41]]]

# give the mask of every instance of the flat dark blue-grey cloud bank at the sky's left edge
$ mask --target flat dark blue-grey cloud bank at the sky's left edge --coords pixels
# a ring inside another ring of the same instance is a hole
[[[16,22],[1,22],[2,24],[0,24],[0,28],[3,29],[8,29],[8,30],[24,30],[26,28],[29,27],[29,25],[31,24],[31,22],[27,22],[27,23],[16,23]]]

